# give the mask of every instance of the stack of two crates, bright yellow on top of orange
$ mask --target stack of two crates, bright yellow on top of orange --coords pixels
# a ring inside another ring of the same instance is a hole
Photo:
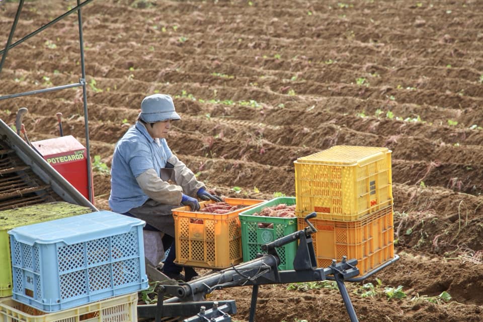
[[[343,256],[357,259],[363,275],[394,256],[391,151],[333,146],[295,162],[298,228],[312,219],[318,267]]]

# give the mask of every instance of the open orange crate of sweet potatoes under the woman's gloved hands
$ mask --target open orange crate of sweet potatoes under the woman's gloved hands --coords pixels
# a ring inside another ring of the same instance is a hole
[[[226,198],[232,206],[246,207],[226,214],[203,213],[214,201],[200,202],[201,212],[189,206],[173,209],[175,219],[175,263],[194,267],[223,269],[243,260],[241,226],[238,214],[265,200]]]

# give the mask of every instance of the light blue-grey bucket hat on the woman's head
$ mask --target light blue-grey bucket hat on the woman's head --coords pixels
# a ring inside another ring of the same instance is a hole
[[[153,94],[146,96],[141,102],[139,117],[147,123],[155,123],[165,120],[181,120],[175,111],[173,99],[165,94]]]

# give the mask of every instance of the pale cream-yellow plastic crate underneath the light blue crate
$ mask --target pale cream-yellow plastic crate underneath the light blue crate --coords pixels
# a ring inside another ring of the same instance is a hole
[[[11,297],[0,300],[3,322],[132,322],[137,321],[137,293],[45,313]]]

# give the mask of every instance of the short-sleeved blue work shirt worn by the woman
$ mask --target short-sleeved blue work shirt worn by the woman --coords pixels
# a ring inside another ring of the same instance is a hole
[[[139,121],[117,142],[111,165],[111,195],[109,207],[114,212],[125,213],[142,206],[149,197],[139,187],[136,178],[154,169],[159,174],[173,155],[162,138],[158,144]]]

